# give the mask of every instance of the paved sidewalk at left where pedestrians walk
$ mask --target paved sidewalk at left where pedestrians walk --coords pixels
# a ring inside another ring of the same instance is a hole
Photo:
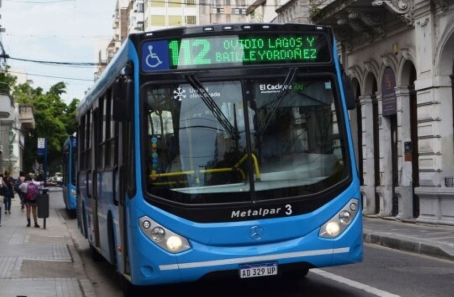
[[[56,190],[56,189],[54,189]],[[75,251],[66,222],[57,209],[63,208],[61,190],[49,192],[50,210],[43,229],[26,227],[25,212],[16,195],[11,214],[2,206],[0,227],[1,297],[88,297],[94,296],[79,254]]]

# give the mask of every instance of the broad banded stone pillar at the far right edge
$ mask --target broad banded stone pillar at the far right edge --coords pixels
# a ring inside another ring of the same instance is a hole
[[[428,83],[429,86],[425,86]],[[452,90],[449,76],[418,80],[419,217],[424,223],[454,225],[454,188],[444,176],[454,168]]]

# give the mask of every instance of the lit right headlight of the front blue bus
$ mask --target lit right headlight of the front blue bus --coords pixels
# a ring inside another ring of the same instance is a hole
[[[351,199],[342,209],[327,221],[319,232],[320,237],[334,238],[339,236],[350,225],[358,212],[358,199]]]

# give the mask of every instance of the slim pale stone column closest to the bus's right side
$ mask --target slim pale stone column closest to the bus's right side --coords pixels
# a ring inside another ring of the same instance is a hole
[[[363,179],[361,186],[363,196],[363,213],[375,213],[375,171],[374,171],[374,126],[372,96],[360,96],[362,114],[362,138],[363,143]]]

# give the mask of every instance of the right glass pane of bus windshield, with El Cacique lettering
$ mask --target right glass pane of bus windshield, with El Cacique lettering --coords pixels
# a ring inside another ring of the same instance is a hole
[[[278,80],[252,85],[252,151],[261,171],[257,198],[266,199],[270,190],[275,197],[297,196],[307,190],[301,186],[339,181],[344,162],[331,81],[297,78],[278,105],[277,94],[286,86]]]

